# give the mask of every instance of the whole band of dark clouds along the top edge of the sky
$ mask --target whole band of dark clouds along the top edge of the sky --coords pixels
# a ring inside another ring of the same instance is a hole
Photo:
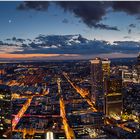
[[[50,3],[55,3],[64,11],[73,13],[90,28],[118,31],[117,27],[110,27],[101,23],[109,8],[112,8],[114,12],[122,11],[130,15],[137,15],[137,18],[140,16],[139,1],[24,1],[17,8],[19,10],[47,11]]]

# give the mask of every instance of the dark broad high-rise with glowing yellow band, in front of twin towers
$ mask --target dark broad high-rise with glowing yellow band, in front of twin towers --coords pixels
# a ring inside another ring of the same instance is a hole
[[[108,116],[121,115],[123,110],[122,78],[110,77],[104,81],[104,112]]]

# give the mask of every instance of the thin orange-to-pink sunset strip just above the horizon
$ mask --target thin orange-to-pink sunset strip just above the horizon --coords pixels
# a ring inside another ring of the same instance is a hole
[[[85,60],[93,59],[95,57],[101,58],[134,58],[136,54],[124,54],[124,53],[110,53],[110,54],[0,54],[0,60],[32,60],[32,61],[42,61],[42,60]]]

